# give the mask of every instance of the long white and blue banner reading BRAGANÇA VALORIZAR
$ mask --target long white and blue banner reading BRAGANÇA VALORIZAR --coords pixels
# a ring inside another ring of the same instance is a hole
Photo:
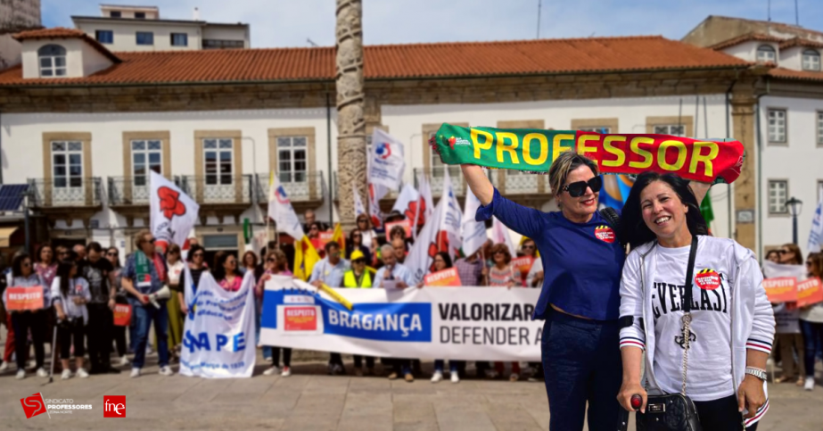
[[[539,289],[440,287],[334,289],[288,277],[266,284],[261,344],[382,358],[539,361]]]

